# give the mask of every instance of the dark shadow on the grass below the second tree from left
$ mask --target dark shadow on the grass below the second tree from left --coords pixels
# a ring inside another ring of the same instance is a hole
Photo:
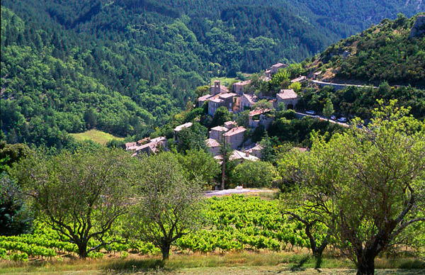
[[[164,262],[160,259],[129,259],[106,264],[103,269],[106,271],[149,271],[164,269]]]

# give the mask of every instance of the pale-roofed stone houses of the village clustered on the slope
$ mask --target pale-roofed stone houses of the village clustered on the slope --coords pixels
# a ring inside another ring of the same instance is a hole
[[[279,69],[288,67],[287,64],[278,63],[271,66],[264,72],[262,80],[264,82],[271,81],[273,74],[276,74]],[[305,82],[307,77],[300,76],[293,79],[294,82]],[[281,89],[276,96],[263,96],[262,94],[255,95],[249,92],[251,80],[240,81],[232,84],[232,89],[222,85],[220,80],[215,80],[210,86],[209,94],[198,98],[198,107],[208,104],[208,115],[215,116],[218,108],[224,106],[229,113],[241,113],[242,111],[251,110],[248,114],[248,127],[251,129],[262,125],[267,129],[275,119],[271,114],[272,110],[278,108],[295,109],[299,99],[298,94],[293,89]],[[263,108],[256,106],[259,101],[267,101],[271,108]],[[186,128],[191,128],[193,123],[188,122],[174,128],[174,142],[178,142],[178,133]],[[246,128],[243,125],[237,125],[237,122],[229,120],[223,125],[212,127],[209,132],[209,137],[205,140],[205,145],[209,152],[217,159],[222,161],[222,145],[228,145],[232,150],[230,160],[243,162],[244,160],[258,161],[261,159],[261,151],[263,147],[258,142],[254,143],[251,140],[245,140]],[[154,154],[159,150],[166,150],[167,140],[165,137],[145,138],[137,142],[127,142],[125,150],[133,152],[133,156],[145,153],[147,155]]]

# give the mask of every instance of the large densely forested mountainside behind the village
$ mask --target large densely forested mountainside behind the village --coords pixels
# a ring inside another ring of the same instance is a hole
[[[212,77],[299,62],[425,8],[380,2],[343,1],[335,16],[324,1],[1,1],[2,139],[62,147],[91,128],[147,135]]]

